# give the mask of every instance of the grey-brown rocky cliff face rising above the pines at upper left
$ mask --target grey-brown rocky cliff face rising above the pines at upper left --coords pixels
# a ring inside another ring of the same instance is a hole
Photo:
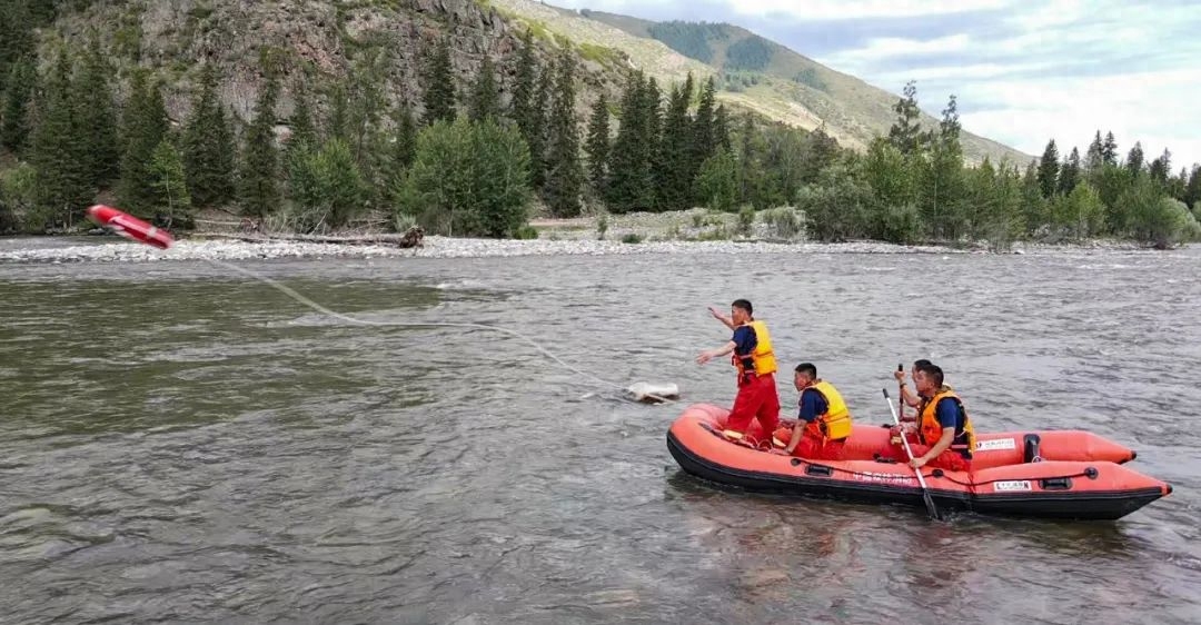
[[[325,113],[335,97],[330,87],[372,54],[384,55],[380,66],[387,101],[408,101],[420,112],[422,61],[443,37],[449,40],[458,93],[468,93],[488,55],[507,103],[524,28],[472,0],[127,0],[60,17],[43,36],[43,52],[60,41],[98,41],[119,77],[135,66],[153,69],[177,123],[190,112],[204,62],[221,70],[222,101],[238,120],[250,121],[264,82],[259,60],[271,55],[283,76],[276,113],[286,125],[298,85],[303,83],[318,113]],[[545,35],[533,42],[543,66],[563,43]],[[600,91],[616,96],[621,62],[588,60],[578,49],[576,59],[581,112]]]

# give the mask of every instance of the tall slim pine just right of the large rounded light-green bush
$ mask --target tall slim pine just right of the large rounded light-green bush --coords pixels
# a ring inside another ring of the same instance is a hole
[[[580,165],[580,132],[575,125],[575,58],[564,48],[558,58],[555,97],[548,124],[546,185],[543,196],[556,216],[580,214],[584,167]]]

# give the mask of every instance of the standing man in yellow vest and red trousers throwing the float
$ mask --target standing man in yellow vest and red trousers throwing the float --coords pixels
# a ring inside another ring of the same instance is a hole
[[[730,304],[730,316],[716,308],[709,311],[715,319],[734,331],[725,345],[701,352],[697,364],[733,353],[730,361],[739,370],[739,394],[725,423],[725,436],[743,440],[751,419],[759,419],[764,444],[779,424],[779,393],[776,391],[776,356],[771,351],[771,335],[763,321],[755,321],[751,302],[736,299]],[[758,446],[759,441],[747,441]]]

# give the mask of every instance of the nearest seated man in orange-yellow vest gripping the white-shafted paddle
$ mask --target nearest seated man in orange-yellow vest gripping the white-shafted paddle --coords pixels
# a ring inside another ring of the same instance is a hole
[[[918,445],[910,446],[914,469],[931,465],[949,471],[970,471],[975,430],[963,401],[943,385],[943,369],[926,364],[914,376],[921,405],[918,409]],[[912,430],[909,430],[912,431]],[[912,440],[912,436],[910,436]],[[892,453],[906,458],[900,438],[892,439]]]

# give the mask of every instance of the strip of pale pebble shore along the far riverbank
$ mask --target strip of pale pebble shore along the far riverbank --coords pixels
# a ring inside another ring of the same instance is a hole
[[[113,234],[0,239],[0,263],[244,261],[282,258],[484,258],[516,256],[608,256],[632,254],[1105,254],[1146,249],[1133,242],[1094,239],[1059,244],[1015,243],[997,251],[988,242],[948,245],[907,245],[872,240],[821,243],[803,237],[776,237],[769,224],[757,224],[742,234],[705,236],[718,225],[693,224],[704,210],[634,213],[609,218],[604,236],[598,218],[534,220],[536,239],[488,239],[425,237],[422,245],[402,248],[402,234],[381,228],[346,230],[335,234],[306,236],[287,232],[245,232],[237,220],[198,219],[209,227],[185,234],[169,250],[157,250]],[[728,216],[728,215],[727,215]],[[731,220],[733,221],[733,220]]]

